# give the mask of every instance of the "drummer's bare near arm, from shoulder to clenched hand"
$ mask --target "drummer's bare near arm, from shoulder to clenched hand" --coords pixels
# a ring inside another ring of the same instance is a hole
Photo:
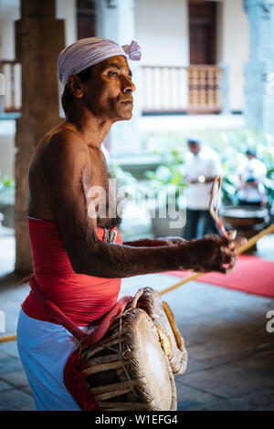
[[[179,245],[125,246],[100,241],[88,214],[89,152],[73,131],[55,135],[44,153],[42,175],[50,209],[75,272],[98,277],[132,277],[169,270],[226,272],[235,249],[219,235]],[[223,249],[222,249],[223,247]]]

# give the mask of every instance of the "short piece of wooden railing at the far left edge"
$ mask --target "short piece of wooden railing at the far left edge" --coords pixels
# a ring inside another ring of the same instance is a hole
[[[21,64],[12,60],[0,61],[0,73],[5,76],[5,94],[2,110],[5,113],[21,111]]]

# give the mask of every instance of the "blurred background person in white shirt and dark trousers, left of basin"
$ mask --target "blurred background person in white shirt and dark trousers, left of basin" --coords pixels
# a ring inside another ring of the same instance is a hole
[[[216,175],[222,174],[218,154],[195,138],[187,140],[185,153],[185,180],[187,186],[185,238],[198,236],[198,225],[203,221],[201,235],[219,234],[216,222],[208,211],[210,190]]]

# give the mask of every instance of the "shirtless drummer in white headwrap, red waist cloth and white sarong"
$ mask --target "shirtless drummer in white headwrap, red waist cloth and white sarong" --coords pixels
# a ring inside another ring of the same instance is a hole
[[[36,284],[81,329],[93,329],[113,308],[121,277],[184,268],[226,273],[236,263],[239,242],[218,235],[121,243],[101,143],[114,122],[132,118],[135,86],[127,58],[140,57],[135,42],[120,47],[101,37],[64,49],[58,78],[65,87],[66,120],[39,142],[29,167],[27,220]],[[79,410],[63,381],[76,347],[71,335],[50,317],[35,290],[22,307],[18,351],[37,410]]]

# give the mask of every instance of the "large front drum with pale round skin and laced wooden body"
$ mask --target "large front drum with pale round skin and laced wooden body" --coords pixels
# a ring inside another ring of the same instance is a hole
[[[100,342],[84,351],[88,368],[83,371],[104,411],[176,410],[174,374],[166,354],[171,342],[138,308],[141,296],[139,291]]]

